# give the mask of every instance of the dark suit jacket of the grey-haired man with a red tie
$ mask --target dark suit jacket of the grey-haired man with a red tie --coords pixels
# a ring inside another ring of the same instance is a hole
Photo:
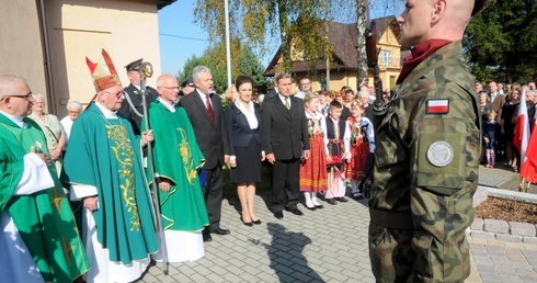
[[[205,94],[204,94],[205,95]],[[184,95],[179,103],[186,110],[194,132],[197,145],[205,156],[205,168],[213,169],[224,165],[224,155],[229,155],[229,143],[227,138],[226,122],[222,116],[221,99],[218,94],[210,98],[215,112],[215,123],[210,121],[205,101],[199,98],[197,89],[188,95]]]

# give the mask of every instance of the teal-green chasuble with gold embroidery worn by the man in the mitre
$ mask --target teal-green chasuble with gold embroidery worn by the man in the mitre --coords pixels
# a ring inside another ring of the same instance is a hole
[[[98,241],[111,261],[124,264],[159,249],[139,143],[126,118],[105,118],[93,104],[72,125],[61,174],[65,182],[98,189]]]

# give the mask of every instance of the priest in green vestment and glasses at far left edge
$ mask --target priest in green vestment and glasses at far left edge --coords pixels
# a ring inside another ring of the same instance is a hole
[[[0,75],[0,281],[72,282],[90,269],[25,80]]]

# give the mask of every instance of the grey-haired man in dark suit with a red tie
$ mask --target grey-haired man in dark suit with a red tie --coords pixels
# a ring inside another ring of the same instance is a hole
[[[209,214],[209,226],[203,233],[204,241],[210,241],[210,233],[228,235],[229,230],[220,227],[222,200],[221,167],[229,159],[229,143],[222,116],[221,100],[215,93],[213,75],[205,66],[193,70],[196,90],[184,95],[180,103],[186,110],[196,134],[197,144],[205,156],[206,184],[203,184],[205,204]]]

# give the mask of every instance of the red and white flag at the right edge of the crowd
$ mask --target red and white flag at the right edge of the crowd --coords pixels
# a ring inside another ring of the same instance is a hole
[[[513,145],[521,152],[521,177],[535,183],[537,182],[537,137],[534,135],[530,140],[528,118],[526,91],[523,91],[521,104],[518,104],[518,116],[516,117]]]

